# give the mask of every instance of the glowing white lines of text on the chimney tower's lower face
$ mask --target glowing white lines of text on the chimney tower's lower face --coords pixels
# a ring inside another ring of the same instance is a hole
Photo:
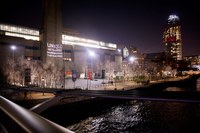
[[[47,43],[47,56],[49,57],[63,57],[62,45]]]

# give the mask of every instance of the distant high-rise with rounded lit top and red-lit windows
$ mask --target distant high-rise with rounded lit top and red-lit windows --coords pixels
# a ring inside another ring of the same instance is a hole
[[[182,60],[181,25],[178,16],[169,16],[163,33],[163,43],[167,57]]]

